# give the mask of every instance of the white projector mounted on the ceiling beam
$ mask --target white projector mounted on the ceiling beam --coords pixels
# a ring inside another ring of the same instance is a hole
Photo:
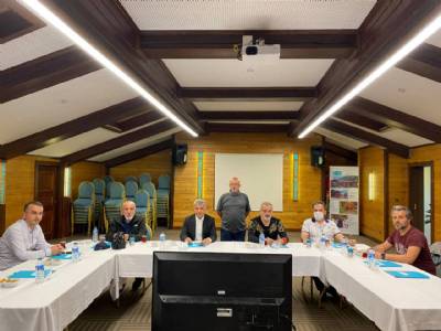
[[[273,61],[280,58],[280,44],[267,45],[265,40],[252,42],[252,35],[244,35],[240,51],[243,61]]]

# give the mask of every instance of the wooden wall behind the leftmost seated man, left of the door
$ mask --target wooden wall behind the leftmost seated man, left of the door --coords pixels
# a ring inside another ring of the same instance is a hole
[[[23,215],[23,205],[34,200],[35,161],[57,162],[54,159],[23,156],[7,161],[6,227]]]

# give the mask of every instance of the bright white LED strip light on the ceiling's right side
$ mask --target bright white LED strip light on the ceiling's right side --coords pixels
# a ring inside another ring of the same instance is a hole
[[[320,117],[318,117],[312,124],[310,124],[300,135],[299,138],[304,138],[313,129],[325,121],[330,116],[335,114],[344,105],[346,105],[351,99],[358,95],[363,89],[378,79],[389,68],[395,66],[399,61],[406,57],[410,52],[417,49],[420,44],[424,42],[429,36],[435,33],[441,28],[441,15],[438,15],[433,21],[426,25],[417,35],[410,39],[402,47],[395,52],[389,58],[376,67],[369,75],[367,75],[362,82],[359,82],[353,89],[351,89],[346,95],[344,95],[338,102],[332,105],[326,111],[324,111]]]

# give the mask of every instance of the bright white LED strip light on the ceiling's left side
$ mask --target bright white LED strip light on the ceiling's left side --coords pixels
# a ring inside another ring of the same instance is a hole
[[[68,26],[57,15],[55,15],[47,7],[45,7],[37,0],[19,0],[19,2],[31,10],[33,13],[39,15],[46,23],[55,26],[60,32],[72,40],[77,46],[79,46],[84,52],[89,54],[104,67],[111,71],[118,78],[120,78],[128,86],[135,89],[139,95],[141,95],[146,100],[158,108],[158,110],[160,110],[171,120],[173,120],[176,125],[179,125],[193,137],[197,137],[197,134],[191,127],[179,119],[166,106],[164,106],[155,96],[153,96],[151,92],[148,92],[146,88],[143,88],[138,82],[126,74],[120,67],[118,67],[118,65],[106,57],[106,55],[104,55],[96,47],[89,44],[83,36],[76,33],[71,26]]]

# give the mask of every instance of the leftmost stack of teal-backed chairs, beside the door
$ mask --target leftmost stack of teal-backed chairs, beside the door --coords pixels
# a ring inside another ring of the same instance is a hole
[[[87,224],[87,234],[90,235],[93,211],[95,209],[95,186],[93,182],[80,182],[78,197],[72,204],[72,234],[75,224]]]

